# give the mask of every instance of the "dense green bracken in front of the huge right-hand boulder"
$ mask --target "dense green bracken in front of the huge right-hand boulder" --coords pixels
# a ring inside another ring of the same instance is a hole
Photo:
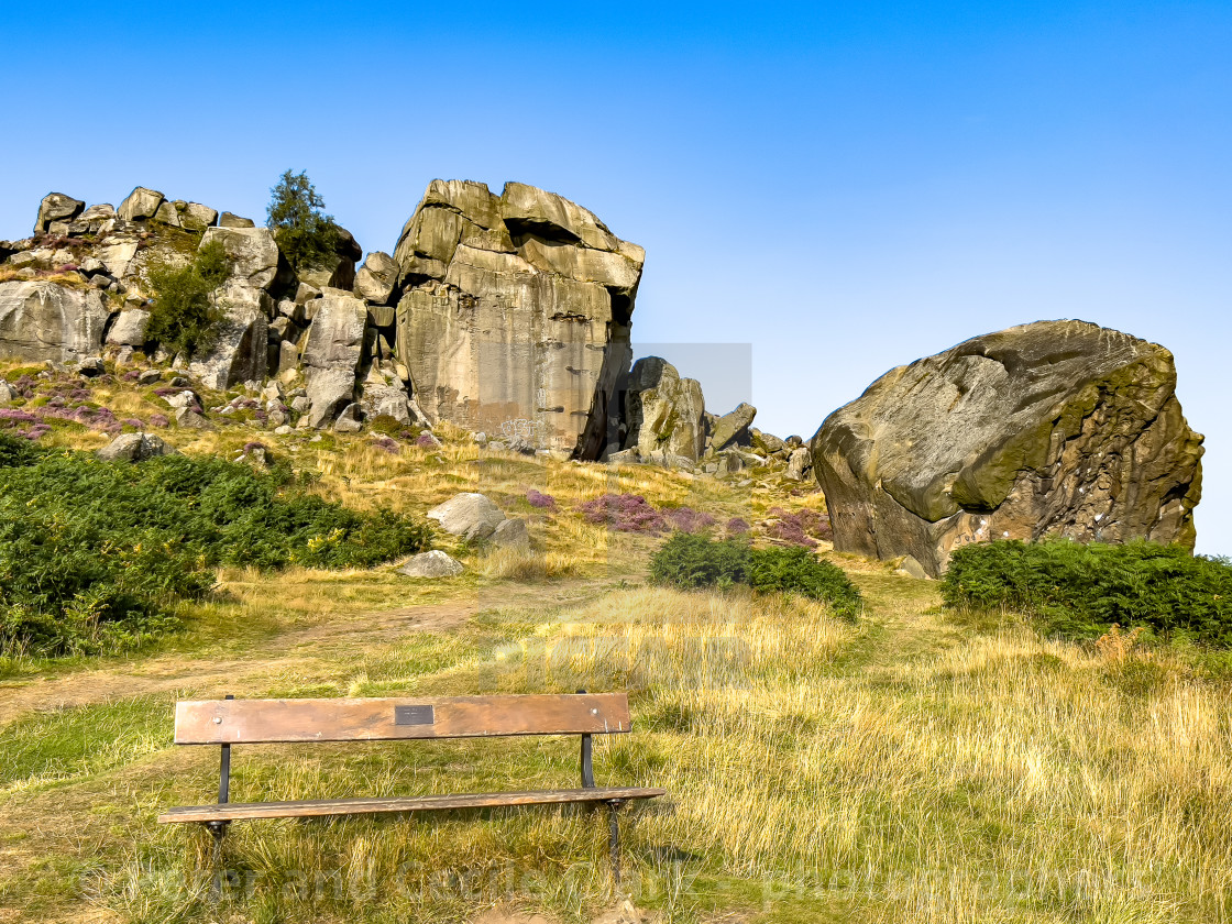
[[[1179,546],[976,543],[950,557],[941,595],[952,607],[1025,614],[1051,634],[1092,637],[1117,623],[1232,644],[1232,564]]]

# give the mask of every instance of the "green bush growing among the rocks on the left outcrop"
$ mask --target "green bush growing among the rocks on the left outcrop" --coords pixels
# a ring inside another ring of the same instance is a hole
[[[229,275],[230,260],[221,240],[205,244],[187,266],[150,267],[154,298],[145,335],[172,355],[208,352],[225,318],[211,296]]]

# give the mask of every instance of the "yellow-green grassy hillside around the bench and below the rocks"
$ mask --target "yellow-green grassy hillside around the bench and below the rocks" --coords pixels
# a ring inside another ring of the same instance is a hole
[[[142,419],[156,398],[95,397]],[[228,568],[185,628],[111,658],[10,658],[0,678],[0,922],[455,922],[493,909],[589,922],[616,897],[601,817],[573,809],[233,825],[160,811],[212,800],[217,750],[170,744],[177,699],[630,690],[634,733],[600,785],[669,796],[623,813],[625,893],[673,922],[1212,922],[1232,917],[1232,685],[1200,649],[1042,641],[957,616],[936,585],[827,557],[856,621],[798,596],[647,583],[662,538],[589,522],[639,494],[758,543],[822,509],[754,473],[611,472],[368,436],[165,431],[187,452],[254,439],[357,509],[421,514],[483,490],[531,519],[529,554],[442,537],[467,573]],[[57,424],[43,445],[105,437]],[[553,506],[527,500],[535,489]],[[795,492],[795,493],[793,493]],[[737,527],[732,527],[733,530]],[[824,552],[824,545],[823,545]],[[577,742],[248,747],[235,800],[572,786]]]

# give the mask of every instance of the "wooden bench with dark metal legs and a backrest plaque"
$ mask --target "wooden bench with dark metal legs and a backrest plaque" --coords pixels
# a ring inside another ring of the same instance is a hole
[[[591,736],[631,731],[627,694],[524,696],[442,696],[421,700],[206,700],[175,706],[176,744],[221,747],[218,802],[170,808],[160,823],[196,822],[222,844],[227,827],[246,818],[315,818],[379,812],[431,812],[564,803],[604,803],[610,809],[612,872],[620,878],[620,807],[654,798],[664,790],[595,786]],[[299,802],[232,802],[233,744],[499,738],[526,734],[582,736],[582,786],[530,792],[484,792],[382,798],[329,798]]]

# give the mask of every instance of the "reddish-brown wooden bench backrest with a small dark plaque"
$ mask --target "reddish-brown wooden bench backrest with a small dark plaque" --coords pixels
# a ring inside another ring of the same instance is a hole
[[[610,734],[630,731],[628,694],[346,700],[203,700],[175,706],[176,744]]]

